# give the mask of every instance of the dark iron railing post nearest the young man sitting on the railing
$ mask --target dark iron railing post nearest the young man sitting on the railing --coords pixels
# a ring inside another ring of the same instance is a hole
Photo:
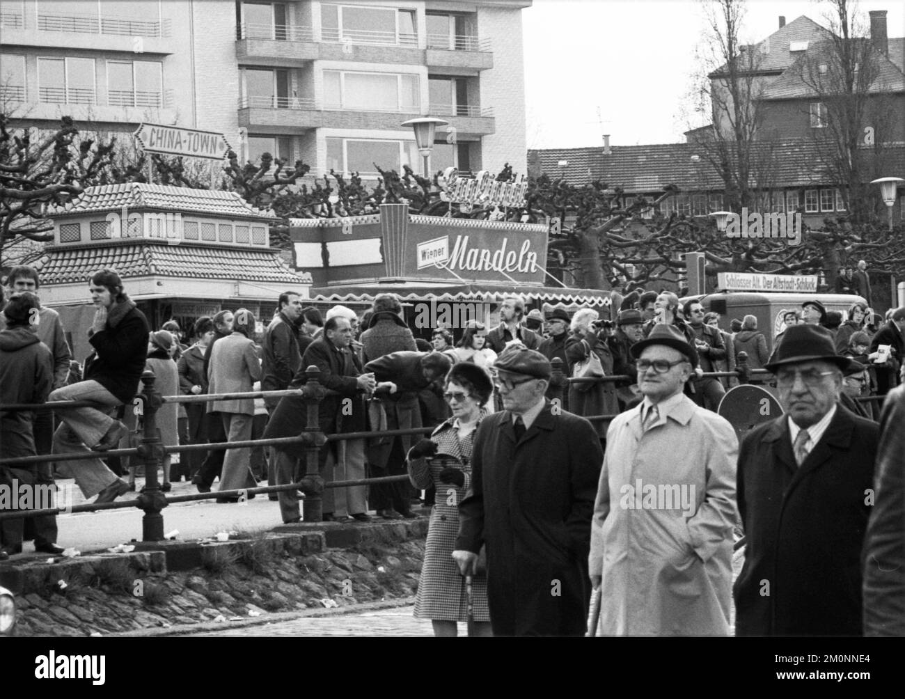
[[[145,511],[141,521],[141,541],[163,541],[164,516],[161,510],[167,507],[167,497],[160,492],[157,482],[157,466],[164,458],[164,445],[157,429],[157,409],[163,405],[163,397],[154,388],[154,372],[145,371],[141,375],[144,390],[138,394],[141,401],[144,430],[141,444],[138,445],[138,457],[145,464],[145,487],[138,494],[138,507]],[[135,409],[133,404],[133,409]]]

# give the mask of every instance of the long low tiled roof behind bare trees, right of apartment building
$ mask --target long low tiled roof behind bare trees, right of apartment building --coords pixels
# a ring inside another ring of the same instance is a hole
[[[875,158],[873,151],[861,152],[865,159]],[[811,140],[761,142],[755,160],[772,163],[769,186],[796,187],[826,181],[820,153],[820,145]],[[889,148],[881,158],[885,171],[895,177],[905,177],[901,174],[905,169],[905,148]],[[533,176],[543,173],[552,179],[562,177],[575,187],[598,180],[610,187],[623,187],[628,193],[658,192],[667,185],[686,192],[724,188],[704,148],[693,143],[614,146],[609,155],[604,155],[604,148],[548,148],[529,150],[528,160]],[[562,160],[567,165],[560,166]]]

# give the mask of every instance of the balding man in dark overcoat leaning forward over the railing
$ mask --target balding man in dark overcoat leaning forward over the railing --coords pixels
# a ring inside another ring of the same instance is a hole
[[[352,341],[352,326],[347,318],[336,316],[324,325],[323,334],[311,342],[302,358],[299,372],[292,379],[290,388],[301,388],[308,378],[305,369],[311,365],[320,369],[320,384],[336,391],[320,401],[318,422],[325,435],[343,432],[361,432],[365,429],[365,407],[362,395],[372,393],[374,377],[362,373],[361,362],[355,352],[349,350]],[[282,397],[273,411],[264,439],[273,437],[299,436],[305,427],[307,407],[301,397]],[[294,482],[299,480],[300,459],[304,456],[302,445],[280,445],[273,447],[277,453],[279,473],[292,474]],[[303,463],[303,462],[302,462]],[[333,478],[333,468],[343,464],[346,479],[357,480],[365,477],[365,445],[363,439],[344,442],[330,442],[320,448],[319,471],[327,482]],[[365,487],[362,485],[343,489],[328,488],[323,494],[323,516],[325,521],[348,520],[350,517],[367,522]],[[348,511],[348,512],[347,512]],[[283,522],[300,520],[299,494],[295,490],[280,493],[280,512]],[[334,516],[335,514],[335,516]]]

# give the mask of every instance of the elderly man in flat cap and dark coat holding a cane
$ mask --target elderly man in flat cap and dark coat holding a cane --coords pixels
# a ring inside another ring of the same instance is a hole
[[[494,636],[583,636],[600,442],[585,418],[544,397],[542,354],[513,347],[494,369],[504,409],[474,438],[452,557],[468,574],[486,545]]]

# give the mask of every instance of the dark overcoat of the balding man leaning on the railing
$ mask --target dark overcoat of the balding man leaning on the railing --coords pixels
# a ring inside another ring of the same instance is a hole
[[[357,376],[361,374],[361,362],[354,352],[350,352],[352,366],[351,374],[346,374],[343,362],[344,355],[333,346],[326,337],[319,337],[311,342],[305,356],[302,358],[301,367],[292,379],[290,388],[300,388],[305,385],[308,378],[305,369],[315,365],[320,369],[320,385],[324,388],[337,391],[338,395],[326,396],[320,401],[318,407],[318,422],[321,431],[325,435],[333,435],[339,432],[360,432],[366,430],[365,407],[361,391],[358,389]],[[350,399],[348,404],[351,411],[342,410],[342,401]],[[271,415],[267,428],[264,430],[264,439],[274,437],[299,436],[305,428],[308,419],[308,408],[300,397],[284,396]],[[350,414],[349,414],[350,413]],[[302,445],[275,446],[289,454],[300,458],[304,455]],[[326,457],[326,447],[321,448],[321,463]]]

